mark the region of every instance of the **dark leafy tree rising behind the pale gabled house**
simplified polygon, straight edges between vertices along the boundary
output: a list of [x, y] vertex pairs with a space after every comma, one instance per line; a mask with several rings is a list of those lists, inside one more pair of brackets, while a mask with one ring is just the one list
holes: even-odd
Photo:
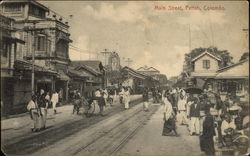
[[193, 65], [192, 65], [191, 60], [205, 51], [221, 58], [222, 61], [219, 64], [220, 68], [233, 64], [232, 62], [233, 57], [230, 55], [230, 53], [227, 50], [218, 50], [216, 47], [196, 48], [196, 49], [193, 49], [191, 52], [185, 54], [183, 72], [190, 74], [190, 72], [192, 72], [193, 70], [193, 67], [192, 67]]

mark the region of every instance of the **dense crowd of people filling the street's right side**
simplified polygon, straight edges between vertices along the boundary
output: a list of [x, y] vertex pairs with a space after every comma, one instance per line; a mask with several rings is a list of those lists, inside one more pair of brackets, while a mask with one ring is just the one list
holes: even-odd
[[173, 88], [162, 91], [162, 101], [165, 121], [162, 135], [178, 136], [178, 121], [187, 126], [191, 136], [199, 136], [201, 150], [207, 155], [215, 154], [214, 140], [217, 140], [219, 149], [237, 146], [241, 147], [241, 152], [246, 152], [249, 116], [242, 115], [235, 96], [227, 95], [222, 100], [211, 89], [194, 94]]

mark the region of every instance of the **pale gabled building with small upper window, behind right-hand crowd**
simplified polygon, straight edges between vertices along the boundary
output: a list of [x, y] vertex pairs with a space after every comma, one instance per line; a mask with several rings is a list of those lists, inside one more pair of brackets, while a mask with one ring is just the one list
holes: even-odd
[[191, 85], [211, 88], [220, 95], [239, 96], [249, 92], [249, 59], [223, 68], [219, 68], [220, 62], [219, 57], [208, 52], [192, 59]]

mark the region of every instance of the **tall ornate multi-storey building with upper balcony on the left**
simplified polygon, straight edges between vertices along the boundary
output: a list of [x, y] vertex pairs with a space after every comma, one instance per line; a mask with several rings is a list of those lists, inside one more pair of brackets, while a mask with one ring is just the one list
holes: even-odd
[[63, 90], [63, 99], [67, 100], [67, 72], [70, 63], [68, 49], [72, 42], [68, 23], [33, 0], [4, 1], [1, 4], [1, 13], [15, 20], [14, 26], [19, 30], [18, 35], [25, 41], [24, 45], [17, 45], [16, 59], [32, 62], [34, 54], [36, 65], [59, 74], [53, 79], [39, 79], [35, 75], [34, 90]]

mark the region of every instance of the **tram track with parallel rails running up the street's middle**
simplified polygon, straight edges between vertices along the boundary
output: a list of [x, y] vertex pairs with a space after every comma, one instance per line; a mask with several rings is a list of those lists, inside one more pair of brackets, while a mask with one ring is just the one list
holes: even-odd
[[87, 145], [78, 148], [72, 155], [115, 155], [143, 127], [157, 108], [157, 106], [151, 106], [149, 112], [144, 112], [140, 108], [115, 125], [114, 128], [106, 131]]

